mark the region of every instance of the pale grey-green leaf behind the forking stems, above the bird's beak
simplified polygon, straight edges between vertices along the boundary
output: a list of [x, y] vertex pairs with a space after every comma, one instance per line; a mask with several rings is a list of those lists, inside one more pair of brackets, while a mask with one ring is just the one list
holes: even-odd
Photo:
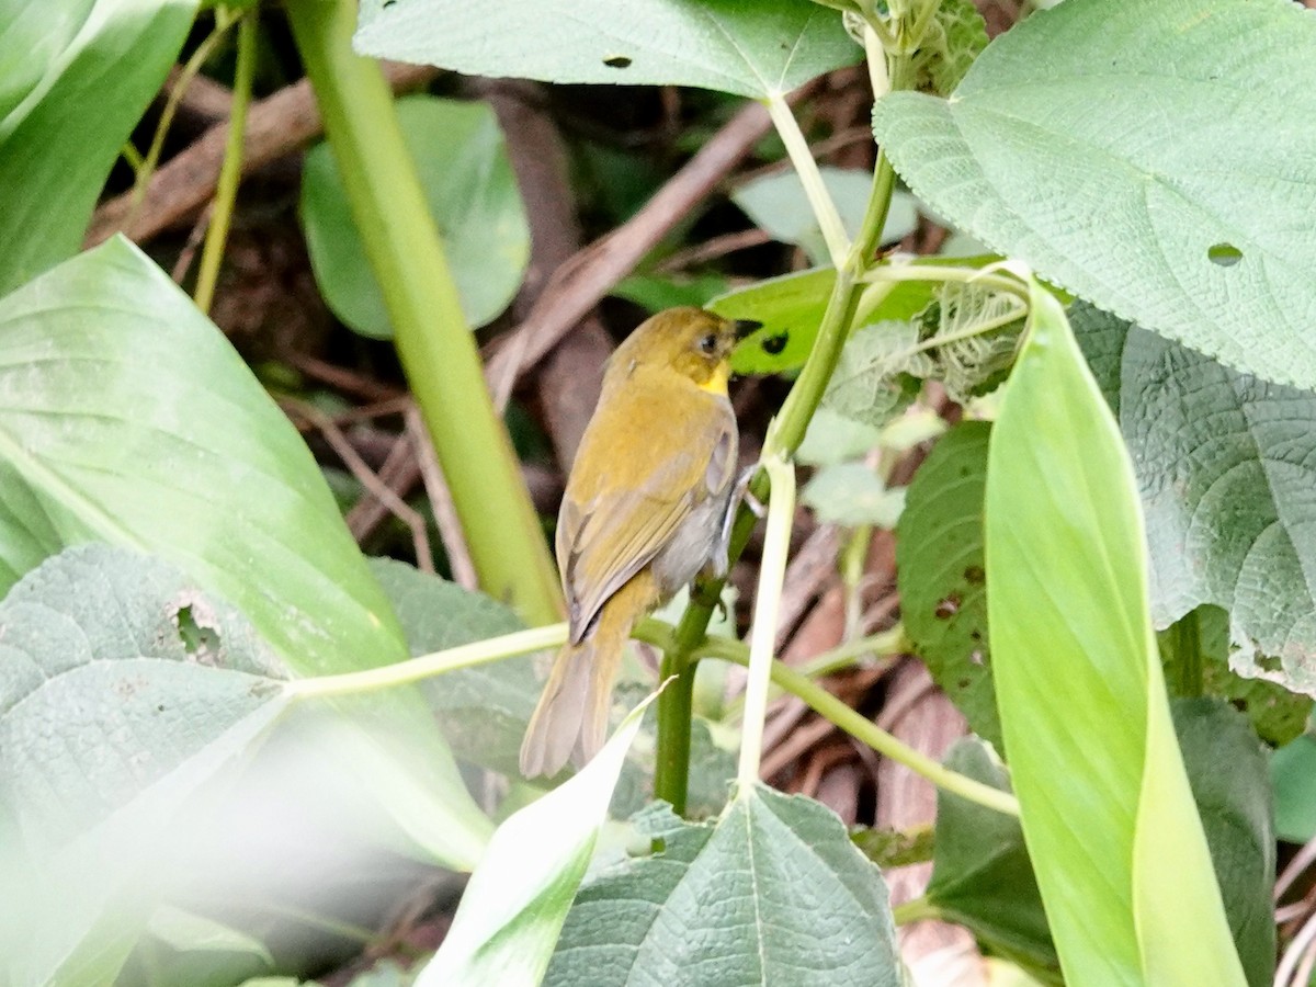
[[[869, 196], [873, 192], [873, 174], [828, 166], [820, 167], [819, 171], [822, 175], [822, 184], [826, 186], [826, 191], [841, 215], [845, 232], [853, 240], [858, 236], [863, 213], [869, 205]], [[779, 171], [746, 182], [732, 192], [732, 201], [744, 209], [754, 225], [772, 240], [795, 243], [804, 249], [813, 263], [826, 263], [829, 251], [826, 241], [822, 238], [822, 228], [819, 226], [808, 196], [804, 195], [804, 184], [795, 171]], [[896, 192], [891, 196], [887, 224], [882, 229], [878, 243], [894, 243], [903, 240], [917, 226], [919, 211], [915, 207], [913, 196], [907, 192]]]

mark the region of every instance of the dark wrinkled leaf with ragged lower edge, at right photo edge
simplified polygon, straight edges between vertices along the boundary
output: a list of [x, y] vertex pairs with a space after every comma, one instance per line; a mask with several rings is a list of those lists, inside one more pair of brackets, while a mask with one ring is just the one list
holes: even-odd
[[1073, 320], [1138, 476], [1153, 620], [1224, 607], [1238, 671], [1316, 695], [1316, 395], [1091, 305]]

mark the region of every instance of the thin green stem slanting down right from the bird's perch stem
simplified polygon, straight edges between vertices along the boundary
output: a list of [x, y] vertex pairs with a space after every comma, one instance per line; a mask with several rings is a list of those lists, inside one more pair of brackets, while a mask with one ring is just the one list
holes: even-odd
[[[704, 650], [709, 657], [716, 655], [724, 661], [746, 667], [750, 665], [749, 649], [740, 641], [713, 637], [708, 640]], [[866, 716], [854, 712], [840, 699], [791, 666], [774, 661], [772, 682], [792, 696], [804, 700], [805, 705], [828, 722], [834, 724], [855, 740], [867, 744], [883, 757], [904, 765], [915, 774], [923, 775], [938, 788], [986, 808], [995, 809], [996, 812], [1005, 813], [1007, 816], [1019, 815], [1019, 800], [1009, 792], [1003, 792], [958, 771], [951, 771], [926, 754], [915, 750], [907, 744], [901, 744]]]

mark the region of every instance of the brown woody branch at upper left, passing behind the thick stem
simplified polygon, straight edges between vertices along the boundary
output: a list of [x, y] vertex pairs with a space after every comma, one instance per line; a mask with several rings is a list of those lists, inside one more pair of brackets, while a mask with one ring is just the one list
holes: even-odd
[[[383, 68], [395, 91], [415, 89], [438, 72], [430, 66], [387, 62]], [[242, 174], [249, 175], [309, 143], [322, 132], [324, 121], [311, 83], [303, 79], [279, 89], [253, 104], [247, 112]], [[209, 128], [187, 150], [157, 168], [146, 186], [145, 197], [136, 208], [132, 192], [101, 203], [92, 216], [84, 245], [95, 246], [120, 232], [141, 243], [193, 216], [215, 196], [228, 139], [228, 121]]]

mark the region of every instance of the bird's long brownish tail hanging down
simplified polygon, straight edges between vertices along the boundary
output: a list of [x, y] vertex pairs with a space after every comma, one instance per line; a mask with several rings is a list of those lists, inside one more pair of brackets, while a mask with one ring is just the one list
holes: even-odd
[[521, 742], [526, 778], [555, 775], [569, 759], [583, 767], [603, 746], [621, 651], [636, 617], [653, 604], [646, 575], [613, 594], [588, 637], [558, 653]]

